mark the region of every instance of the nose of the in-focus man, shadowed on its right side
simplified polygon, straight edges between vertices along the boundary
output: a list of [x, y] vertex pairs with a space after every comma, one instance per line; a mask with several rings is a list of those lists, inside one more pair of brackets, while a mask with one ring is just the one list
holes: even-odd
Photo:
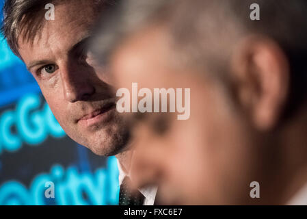
[[61, 71], [61, 77], [64, 98], [71, 103], [86, 101], [95, 93], [95, 88], [93, 83], [90, 82], [89, 74], [82, 73], [81, 69], [73, 70], [66, 68]]

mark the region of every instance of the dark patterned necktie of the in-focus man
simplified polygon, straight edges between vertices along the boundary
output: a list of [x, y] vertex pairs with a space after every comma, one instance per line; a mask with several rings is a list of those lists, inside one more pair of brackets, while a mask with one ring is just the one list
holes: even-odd
[[131, 179], [129, 177], [124, 177], [124, 181], [122, 181], [122, 185], [120, 185], [119, 205], [143, 205], [145, 197], [139, 190], [132, 192], [129, 185], [131, 185]]

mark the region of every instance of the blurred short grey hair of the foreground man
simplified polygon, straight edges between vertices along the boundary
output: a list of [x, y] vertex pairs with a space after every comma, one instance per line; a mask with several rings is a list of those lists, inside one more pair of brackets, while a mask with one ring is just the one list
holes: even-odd
[[[250, 19], [250, 5], [261, 8], [260, 21]], [[215, 70], [226, 78], [233, 45], [248, 34], [275, 40], [289, 59], [289, 109], [306, 99], [306, 0], [124, 0], [103, 14], [92, 51], [107, 62], [120, 42], [146, 25], [165, 25], [176, 58], [191, 66]], [[204, 70], [202, 70], [204, 71]]]

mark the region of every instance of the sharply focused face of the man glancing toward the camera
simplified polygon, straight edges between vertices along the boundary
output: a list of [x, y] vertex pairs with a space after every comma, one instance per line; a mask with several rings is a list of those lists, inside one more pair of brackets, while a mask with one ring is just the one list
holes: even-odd
[[128, 132], [116, 111], [111, 77], [87, 52], [96, 13], [92, 1], [55, 5], [34, 43], [19, 38], [19, 53], [55, 118], [76, 142], [98, 155], [114, 155]]

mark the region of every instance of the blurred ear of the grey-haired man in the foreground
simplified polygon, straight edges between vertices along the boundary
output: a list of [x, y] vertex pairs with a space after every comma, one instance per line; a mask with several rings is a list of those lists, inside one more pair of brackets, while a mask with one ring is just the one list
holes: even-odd
[[256, 129], [273, 128], [289, 89], [289, 63], [282, 49], [268, 38], [245, 38], [235, 47], [230, 68], [239, 105]]

